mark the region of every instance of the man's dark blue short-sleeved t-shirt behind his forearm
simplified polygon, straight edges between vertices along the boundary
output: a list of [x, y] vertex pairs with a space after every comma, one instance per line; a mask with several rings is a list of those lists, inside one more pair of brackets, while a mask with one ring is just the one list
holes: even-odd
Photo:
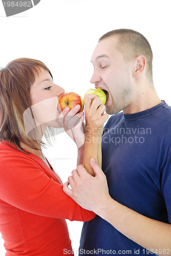
[[[113, 115], [102, 136], [102, 170], [113, 199], [148, 218], [171, 223], [170, 106], [162, 101], [139, 113]], [[96, 216], [82, 228], [79, 255], [87, 254], [151, 253]]]

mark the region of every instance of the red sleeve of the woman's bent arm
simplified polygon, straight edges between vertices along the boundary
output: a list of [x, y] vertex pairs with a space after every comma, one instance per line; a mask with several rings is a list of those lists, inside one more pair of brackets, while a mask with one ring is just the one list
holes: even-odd
[[[50, 169], [28, 155], [1, 154], [0, 198], [32, 214], [89, 221], [96, 215], [76, 204], [63, 190], [60, 181], [47, 175]], [[41, 166], [42, 165], [42, 166]], [[47, 169], [46, 169], [47, 168]], [[49, 170], [48, 170], [49, 169]]]

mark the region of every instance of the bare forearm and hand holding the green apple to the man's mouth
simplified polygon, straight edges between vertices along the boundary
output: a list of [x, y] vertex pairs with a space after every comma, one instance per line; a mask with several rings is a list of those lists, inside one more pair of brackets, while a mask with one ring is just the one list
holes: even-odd
[[105, 106], [94, 94], [86, 95], [84, 103], [86, 114], [86, 140], [84, 143], [83, 164], [87, 172], [95, 176], [90, 165], [90, 159], [94, 157], [99, 166], [101, 166], [101, 136], [104, 122], [108, 119], [108, 114], [104, 114]]

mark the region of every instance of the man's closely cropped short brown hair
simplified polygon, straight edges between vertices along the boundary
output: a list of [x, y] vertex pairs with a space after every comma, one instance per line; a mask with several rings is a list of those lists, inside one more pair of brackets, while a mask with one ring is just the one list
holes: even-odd
[[131, 61], [139, 55], [145, 57], [146, 75], [150, 81], [153, 81], [153, 52], [148, 40], [135, 30], [116, 29], [102, 35], [99, 41], [114, 35], [118, 36], [117, 49], [124, 55], [126, 61]]

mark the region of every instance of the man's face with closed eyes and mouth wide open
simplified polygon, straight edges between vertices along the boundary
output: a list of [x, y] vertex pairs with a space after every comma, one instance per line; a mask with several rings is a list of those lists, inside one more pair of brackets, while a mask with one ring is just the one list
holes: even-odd
[[133, 101], [134, 87], [132, 83], [131, 63], [117, 50], [117, 37], [102, 39], [92, 55], [94, 73], [91, 83], [95, 88], [106, 90], [106, 113], [116, 114], [129, 106]]

